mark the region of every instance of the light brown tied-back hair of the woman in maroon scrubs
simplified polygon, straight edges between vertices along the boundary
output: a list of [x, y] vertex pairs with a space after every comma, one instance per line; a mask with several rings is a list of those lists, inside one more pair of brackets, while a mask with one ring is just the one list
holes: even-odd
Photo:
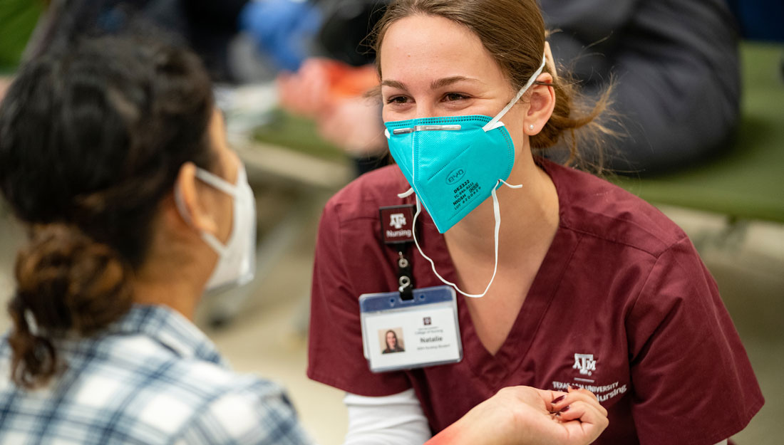
[[[535, 0], [396, 0], [387, 6], [372, 34], [379, 77], [384, 34], [397, 20], [417, 14], [441, 16], [473, 31], [515, 90], [521, 89], [542, 63], [546, 29]], [[543, 154], [565, 139], [562, 142], [569, 151], [567, 165], [601, 172], [601, 155], [598, 159], [586, 159], [579, 147], [588, 143], [598, 149], [604, 145], [606, 136], [615, 136], [597, 119], [608, 109], [610, 89], [590, 103], [579, 95], [568, 75], [556, 75], [549, 64], [545, 71], [553, 76], [551, 86], [555, 89], [556, 102], [550, 120], [541, 132], [531, 137], [532, 150]], [[580, 131], [575, 132], [578, 128]]]

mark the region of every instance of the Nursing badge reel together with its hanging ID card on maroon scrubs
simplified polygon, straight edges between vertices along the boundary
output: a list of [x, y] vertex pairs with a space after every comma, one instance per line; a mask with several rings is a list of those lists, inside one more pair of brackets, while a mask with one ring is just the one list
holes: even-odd
[[379, 208], [382, 240], [397, 251], [397, 290], [359, 297], [362, 344], [373, 372], [463, 360], [455, 290], [415, 288], [407, 255], [413, 213], [413, 205]]

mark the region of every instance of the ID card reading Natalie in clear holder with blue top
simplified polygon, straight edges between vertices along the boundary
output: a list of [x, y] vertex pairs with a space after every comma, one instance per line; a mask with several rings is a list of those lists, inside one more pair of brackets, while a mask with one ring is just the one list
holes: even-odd
[[463, 360], [463, 342], [451, 286], [359, 296], [362, 345], [370, 371], [384, 372]]

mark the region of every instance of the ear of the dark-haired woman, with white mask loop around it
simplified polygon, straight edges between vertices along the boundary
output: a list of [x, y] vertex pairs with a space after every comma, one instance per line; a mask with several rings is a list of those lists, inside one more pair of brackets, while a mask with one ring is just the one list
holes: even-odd
[[[184, 222], [198, 232], [216, 234], [218, 225], [205, 205], [208, 197], [204, 187], [197, 185], [196, 165], [186, 162], [174, 184], [174, 200]], [[200, 192], [200, 190], [202, 190]]]

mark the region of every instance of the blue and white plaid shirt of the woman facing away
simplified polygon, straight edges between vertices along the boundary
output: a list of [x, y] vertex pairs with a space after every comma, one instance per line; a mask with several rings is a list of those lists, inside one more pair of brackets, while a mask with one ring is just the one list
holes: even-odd
[[0, 344], [0, 444], [310, 443], [283, 390], [230, 371], [194, 324], [134, 306], [93, 338], [60, 339], [67, 368], [27, 391]]

